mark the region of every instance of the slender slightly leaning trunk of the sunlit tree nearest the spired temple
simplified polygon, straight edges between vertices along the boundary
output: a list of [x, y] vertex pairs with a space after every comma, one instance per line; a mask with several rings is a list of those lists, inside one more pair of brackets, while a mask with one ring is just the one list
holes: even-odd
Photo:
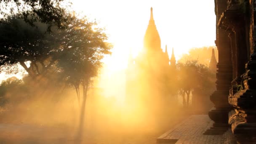
[[78, 134], [77, 139], [82, 143], [82, 136], [83, 136], [83, 130], [84, 130], [84, 120], [85, 120], [85, 104], [86, 104], [86, 98], [87, 98], [87, 90], [88, 90], [88, 83], [83, 85], [83, 103], [80, 110], [80, 123], [78, 127]]

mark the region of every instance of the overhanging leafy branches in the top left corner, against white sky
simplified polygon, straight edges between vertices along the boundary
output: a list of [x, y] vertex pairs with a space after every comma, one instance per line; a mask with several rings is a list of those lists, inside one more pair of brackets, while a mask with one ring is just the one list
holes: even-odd
[[24, 19], [30, 25], [35, 21], [47, 24], [48, 31], [53, 25], [60, 29], [67, 27], [65, 9], [61, 7], [63, 0], [0, 0], [0, 14], [3, 17], [9, 14], [20, 13], [20, 19]]

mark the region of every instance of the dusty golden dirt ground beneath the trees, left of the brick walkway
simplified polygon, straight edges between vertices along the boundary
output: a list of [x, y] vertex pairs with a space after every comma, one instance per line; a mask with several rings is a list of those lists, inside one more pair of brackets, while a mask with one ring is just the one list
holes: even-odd
[[145, 132], [86, 131], [82, 139], [76, 139], [76, 131], [63, 125], [44, 126], [24, 123], [1, 123], [0, 144], [156, 144], [156, 139], [184, 117], [176, 118], [163, 128]]

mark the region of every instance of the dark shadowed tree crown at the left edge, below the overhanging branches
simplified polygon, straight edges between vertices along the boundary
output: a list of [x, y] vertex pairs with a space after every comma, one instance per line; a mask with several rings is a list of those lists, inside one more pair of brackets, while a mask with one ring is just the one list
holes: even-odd
[[63, 51], [57, 36], [61, 31], [45, 33], [46, 24], [35, 25], [30, 26], [16, 15], [0, 23], [0, 66], [20, 64], [32, 77], [46, 74]]

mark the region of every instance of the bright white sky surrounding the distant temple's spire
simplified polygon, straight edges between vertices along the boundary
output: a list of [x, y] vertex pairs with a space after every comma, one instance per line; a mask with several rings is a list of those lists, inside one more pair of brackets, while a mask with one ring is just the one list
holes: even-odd
[[162, 48], [168, 45], [179, 59], [189, 48], [215, 45], [214, 0], [73, 0], [72, 8], [106, 28], [114, 44], [111, 69], [126, 67], [129, 49], [133, 55], [143, 47], [143, 38], [153, 7]]

